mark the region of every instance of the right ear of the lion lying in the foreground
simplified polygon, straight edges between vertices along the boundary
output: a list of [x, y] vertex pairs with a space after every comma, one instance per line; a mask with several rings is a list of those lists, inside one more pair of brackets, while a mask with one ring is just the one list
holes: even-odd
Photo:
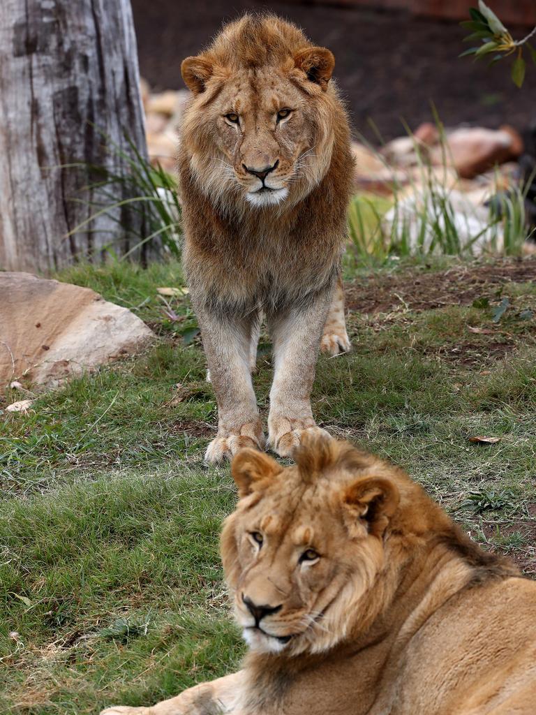
[[400, 493], [397, 485], [387, 477], [364, 476], [347, 487], [343, 501], [352, 516], [367, 523], [369, 533], [382, 536], [397, 511]]

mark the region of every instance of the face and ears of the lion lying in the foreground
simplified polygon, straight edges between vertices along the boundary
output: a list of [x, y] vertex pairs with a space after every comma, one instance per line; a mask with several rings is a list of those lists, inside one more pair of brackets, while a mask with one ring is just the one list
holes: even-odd
[[[322, 450], [341, 449], [319, 440]], [[237, 621], [256, 651], [331, 648], [382, 569], [397, 488], [374, 467], [356, 468], [360, 453], [344, 449], [353, 462], [323, 473], [283, 469], [254, 450], [234, 459], [242, 498], [224, 526], [222, 558]]]

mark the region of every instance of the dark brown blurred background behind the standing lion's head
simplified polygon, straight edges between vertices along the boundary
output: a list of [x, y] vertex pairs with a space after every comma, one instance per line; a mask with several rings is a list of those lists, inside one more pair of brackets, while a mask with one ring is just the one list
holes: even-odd
[[[504, 10], [507, 0], [500, 2]], [[510, 28], [516, 38], [527, 34], [530, 11], [536, 10], [535, 0], [524, 2], [512, 0], [508, 6], [510, 15], [525, 19], [525, 26]], [[410, 10], [378, 10], [382, 3]], [[244, 11], [270, 10], [332, 49], [357, 132], [372, 137], [372, 119], [385, 139], [398, 136], [404, 133], [401, 119], [415, 129], [432, 117], [431, 102], [447, 126], [508, 123], [525, 129], [536, 120], [536, 66], [527, 66], [519, 90], [510, 80], [508, 61], [488, 69], [485, 63], [458, 59], [466, 33], [457, 21], [439, 16], [456, 10], [463, 17], [463, 3], [475, 6], [477, 0], [382, 0], [372, 3], [376, 9], [363, 6], [364, 0], [132, 0], [142, 75], [158, 89], [184, 87], [182, 59], [199, 52], [223, 21]], [[494, 7], [492, 0], [487, 4]]]

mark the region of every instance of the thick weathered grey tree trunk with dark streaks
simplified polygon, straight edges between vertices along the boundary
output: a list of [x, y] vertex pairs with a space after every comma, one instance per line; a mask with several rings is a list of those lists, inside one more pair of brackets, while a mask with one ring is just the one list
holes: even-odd
[[[131, 204], [69, 235], [103, 202], [91, 167], [129, 174], [124, 132], [145, 155], [130, 0], [0, 0], [0, 269], [46, 273], [139, 240]], [[131, 189], [106, 191], [113, 204]]]

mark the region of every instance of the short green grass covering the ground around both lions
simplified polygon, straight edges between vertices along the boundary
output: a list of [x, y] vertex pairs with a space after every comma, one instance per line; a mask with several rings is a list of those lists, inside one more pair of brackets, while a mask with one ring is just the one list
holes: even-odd
[[[214, 395], [188, 297], [157, 293], [182, 285], [179, 265], [61, 277], [130, 307], [159, 340], [41, 396], [28, 415], [2, 415], [0, 711], [10, 715], [152, 704], [243, 653], [217, 546], [235, 490], [228, 468], [202, 464]], [[520, 313], [536, 310], [536, 287], [506, 285], [505, 296], [498, 324], [493, 305], [352, 313], [354, 352], [320, 358], [314, 413], [405, 467], [473, 538], [535, 576], [536, 326]], [[493, 358], [502, 339], [510, 347]], [[258, 368], [266, 416], [269, 354]]]

